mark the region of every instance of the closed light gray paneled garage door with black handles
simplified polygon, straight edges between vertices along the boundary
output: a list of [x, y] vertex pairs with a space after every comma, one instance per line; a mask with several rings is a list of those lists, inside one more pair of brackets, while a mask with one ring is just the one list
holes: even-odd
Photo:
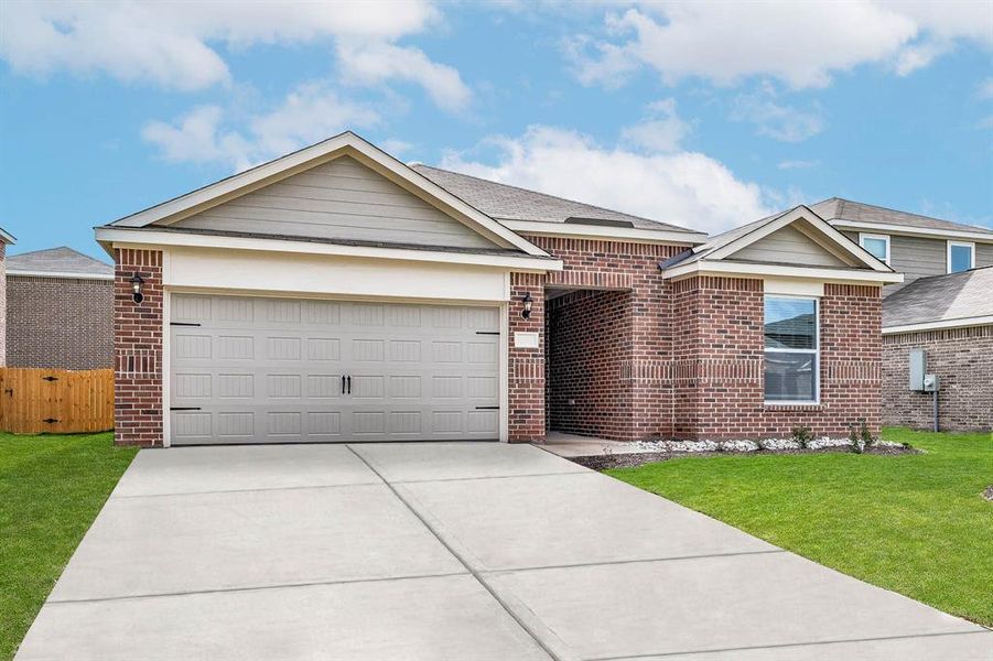
[[499, 310], [173, 294], [172, 443], [497, 440]]

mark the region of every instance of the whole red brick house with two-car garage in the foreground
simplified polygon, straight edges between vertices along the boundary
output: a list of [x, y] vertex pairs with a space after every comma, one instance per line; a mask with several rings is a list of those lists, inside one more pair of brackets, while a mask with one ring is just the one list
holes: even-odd
[[805, 206], [708, 239], [350, 132], [96, 238], [147, 446], [878, 430], [903, 278]]

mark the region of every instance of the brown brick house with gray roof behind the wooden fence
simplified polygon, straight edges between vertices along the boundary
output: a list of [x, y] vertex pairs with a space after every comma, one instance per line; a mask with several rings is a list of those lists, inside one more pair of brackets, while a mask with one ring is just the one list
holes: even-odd
[[9, 257], [6, 283], [9, 366], [111, 366], [114, 267], [63, 246]]

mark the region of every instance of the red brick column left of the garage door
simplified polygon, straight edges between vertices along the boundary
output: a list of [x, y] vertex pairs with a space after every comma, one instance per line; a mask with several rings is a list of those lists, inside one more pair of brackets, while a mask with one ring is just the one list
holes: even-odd
[[[162, 252], [114, 251], [114, 419], [118, 445], [162, 445]], [[144, 301], [131, 300], [134, 273]]]

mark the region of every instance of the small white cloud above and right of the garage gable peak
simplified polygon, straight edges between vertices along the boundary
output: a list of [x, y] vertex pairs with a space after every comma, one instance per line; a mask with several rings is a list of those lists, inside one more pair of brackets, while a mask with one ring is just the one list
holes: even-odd
[[455, 68], [431, 62], [420, 48], [342, 42], [337, 52], [347, 80], [363, 85], [391, 79], [415, 83], [445, 110], [462, 110], [472, 98], [472, 91]]

